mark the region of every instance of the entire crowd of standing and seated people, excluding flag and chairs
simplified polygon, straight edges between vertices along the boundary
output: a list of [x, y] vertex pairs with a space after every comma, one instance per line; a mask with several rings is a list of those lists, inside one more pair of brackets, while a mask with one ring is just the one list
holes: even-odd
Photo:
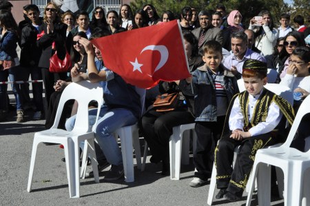
[[[240, 200], [256, 151], [277, 142], [274, 131], [279, 130], [282, 117], [292, 123], [293, 111], [297, 112], [310, 92], [310, 28], [304, 25], [301, 15], [293, 18], [295, 27], [291, 27], [290, 15], [282, 14], [277, 28], [271, 13], [262, 10], [254, 14], [249, 28], [245, 29], [247, 23], [242, 23], [240, 11], [232, 10], [226, 14], [221, 4], [212, 11], [198, 12], [186, 6], [180, 14], [167, 10], [161, 16], [152, 4], [146, 4], [136, 12], [124, 4], [119, 12], [110, 10], [106, 14], [97, 6], [90, 19], [90, 14], [85, 11], [61, 13], [56, 4], [50, 2], [45, 6], [43, 17], [39, 17], [36, 5], [24, 6], [25, 20], [17, 25], [11, 8], [8, 1], [1, 1], [0, 82], [8, 81], [8, 78], [10, 81], [27, 81], [30, 74], [32, 80], [43, 79], [47, 105], [44, 110], [42, 83], [32, 84], [32, 100], [28, 84], [12, 84], [17, 122], [25, 121], [26, 110], [34, 110], [33, 120], [45, 118], [45, 127], [50, 128], [66, 85], [81, 80], [101, 82], [105, 103], [101, 107], [91, 106], [90, 123], [94, 122], [94, 115], [100, 109], [95, 132], [96, 156], [99, 172], [112, 165], [105, 175], [106, 181], [121, 178], [124, 173], [121, 150], [113, 136], [119, 127], [138, 122], [152, 154], [151, 163], [161, 163], [162, 174], [168, 175], [172, 128], [196, 123], [198, 138], [193, 151], [196, 172], [189, 185], [200, 187], [207, 183], [215, 161], [220, 189], [216, 198]], [[105, 67], [102, 51], [90, 40], [174, 19], [180, 19], [192, 76], [173, 82], [161, 81], [157, 87], [147, 90], [143, 106], [136, 87], [125, 83], [121, 74]], [[21, 48], [20, 58], [17, 44]], [[72, 69], [50, 72], [49, 59], [55, 52], [60, 59], [69, 53]], [[263, 85], [268, 81], [267, 68], [278, 72], [273, 83], [287, 85], [294, 93], [299, 92], [300, 99], [290, 105], [264, 89]], [[237, 80], [241, 78], [245, 82], [245, 92], [238, 88]], [[0, 121], [6, 121], [10, 107], [7, 87], [0, 85]], [[172, 110], [163, 112], [152, 106], [158, 94], [174, 92], [179, 95]], [[70, 101], [65, 107], [68, 110], [61, 114], [58, 127], [72, 130], [77, 105]], [[143, 107], [146, 111], [141, 115]], [[304, 150], [304, 138], [309, 133], [303, 130], [293, 146]], [[237, 167], [232, 169], [236, 145], [242, 145], [242, 149], [236, 160]], [[92, 175], [92, 172], [87, 174]]]

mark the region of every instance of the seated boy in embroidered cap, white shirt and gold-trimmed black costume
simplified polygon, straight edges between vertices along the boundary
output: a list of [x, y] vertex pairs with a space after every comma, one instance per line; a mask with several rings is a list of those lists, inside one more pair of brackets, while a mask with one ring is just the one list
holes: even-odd
[[[291, 104], [264, 88], [266, 63], [254, 59], [245, 61], [242, 78], [246, 90], [231, 101], [227, 112], [229, 122], [225, 121], [214, 154], [216, 182], [220, 189], [216, 198], [224, 197], [231, 202], [241, 199], [257, 150], [280, 141], [277, 134], [281, 131], [282, 116], [290, 124], [294, 118]], [[234, 150], [238, 145], [241, 146], [233, 169]]]

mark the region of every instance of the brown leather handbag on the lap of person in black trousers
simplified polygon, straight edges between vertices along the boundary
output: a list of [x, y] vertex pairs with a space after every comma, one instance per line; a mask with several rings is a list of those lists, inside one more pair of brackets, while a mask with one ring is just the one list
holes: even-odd
[[168, 112], [175, 110], [178, 106], [178, 95], [178, 92], [158, 95], [153, 103], [153, 106], [156, 107], [156, 112]]

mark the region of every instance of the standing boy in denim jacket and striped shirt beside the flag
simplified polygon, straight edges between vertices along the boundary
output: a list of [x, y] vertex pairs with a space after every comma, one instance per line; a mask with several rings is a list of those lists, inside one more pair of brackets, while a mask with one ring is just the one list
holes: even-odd
[[236, 77], [221, 64], [222, 45], [215, 40], [207, 41], [203, 53], [205, 65], [192, 72], [192, 77], [186, 80], [193, 83], [198, 137], [194, 151], [197, 171], [189, 183], [191, 187], [200, 187], [211, 176], [214, 148], [223, 130], [228, 105], [234, 94], [239, 92]]

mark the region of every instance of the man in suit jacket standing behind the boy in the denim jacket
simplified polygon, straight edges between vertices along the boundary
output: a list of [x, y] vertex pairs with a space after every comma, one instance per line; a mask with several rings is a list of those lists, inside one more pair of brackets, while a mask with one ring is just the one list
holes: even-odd
[[223, 44], [223, 31], [220, 28], [214, 28], [211, 24], [212, 16], [209, 12], [202, 10], [198, 14], [200, 28], [193, 30], [193, 34], [198, 39], [198, 49], [202, 50], [205, 42], [216, 40]]

